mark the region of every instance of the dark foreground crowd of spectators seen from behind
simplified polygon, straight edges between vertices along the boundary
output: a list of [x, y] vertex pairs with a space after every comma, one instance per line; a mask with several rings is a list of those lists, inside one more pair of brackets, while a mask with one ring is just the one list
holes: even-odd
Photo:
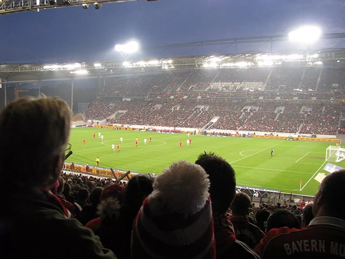
[[255, 206], [214, 153], [126, 184], [61, 175], [71, 115], [46, 97], [19, 98], [0, 113], [3, 258], [344, 257], [344, 170], [323, 179], [312, 207]]

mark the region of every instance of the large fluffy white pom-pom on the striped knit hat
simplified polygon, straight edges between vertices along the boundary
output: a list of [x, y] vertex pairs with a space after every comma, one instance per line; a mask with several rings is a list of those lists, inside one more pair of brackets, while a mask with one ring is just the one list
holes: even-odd
[[164, 208], [168, 213], [194, 214], [205, 206], [209, 186], [208, 175], [200, 165], [187, 161], [173, 163], [155, 180], [150, 208], [152, 212]]

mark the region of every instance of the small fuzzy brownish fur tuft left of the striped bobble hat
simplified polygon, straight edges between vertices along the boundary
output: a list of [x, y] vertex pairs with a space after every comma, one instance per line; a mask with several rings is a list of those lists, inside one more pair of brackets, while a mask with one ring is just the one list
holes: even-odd
[[118, 219], [121, 213], [121, 202], [118, 198], [108, 197], [102, 200], [97, 206], [97, 214], [102, 220], [104, 219]]

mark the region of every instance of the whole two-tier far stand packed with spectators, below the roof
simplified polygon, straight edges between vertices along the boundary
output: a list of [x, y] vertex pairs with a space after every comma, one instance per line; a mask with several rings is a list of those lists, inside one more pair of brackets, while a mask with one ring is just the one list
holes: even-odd
[[[109, 78], [100, 98], [90, 104], [85, 116], [102, 120], [125, 111], [108, 121], [334, 135], [341, 107], [332, 101], [343, 98], [339, 91], [345, 81], [343, 72], [340, 68], [275, 67], [198, 69]], [[122, 102], [106, 96], [129, 99]], [[214, 117], [219, 118], [210, 123]]]

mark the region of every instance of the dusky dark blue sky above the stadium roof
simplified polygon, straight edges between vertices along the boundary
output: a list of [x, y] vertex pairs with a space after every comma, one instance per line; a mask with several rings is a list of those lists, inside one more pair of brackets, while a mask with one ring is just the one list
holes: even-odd
[[[303, 11], [304, 10], [304, 11]], [[287, 33], [316, 24], [323, 32], [345, 32], [345, 0], [159, 0], [22, 12], [0, 16], [0, 63], [121, 60], [118, 42], [135, 38], [137, 57], [233, 53], [232, 46], [145, 51], [172, 43]], [[313, 49], [344, 47], [320, 42]], [[303, 47], [303, 46], [302, 46]], [[288, 43], [277, 49], [302, 48]], [[242, 45], [239, 51], [269, 49]]]

